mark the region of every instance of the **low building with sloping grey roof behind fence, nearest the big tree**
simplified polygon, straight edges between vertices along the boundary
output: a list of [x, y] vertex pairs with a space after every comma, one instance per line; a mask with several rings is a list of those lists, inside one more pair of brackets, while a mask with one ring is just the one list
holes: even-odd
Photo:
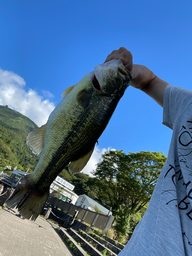
[[79, 196], [75, 205], [92, 211], [96, 211], [95, 206], [97, 206], [97, 208], [100, 211], [102, 211], [103, 214], [112, 215], [112, 212], [110, 210], [106, 209], [104, 206], [100, 205], [99, 203], [97, 203], [96, 201], [94, 201], [93, 199], [86, 195]]

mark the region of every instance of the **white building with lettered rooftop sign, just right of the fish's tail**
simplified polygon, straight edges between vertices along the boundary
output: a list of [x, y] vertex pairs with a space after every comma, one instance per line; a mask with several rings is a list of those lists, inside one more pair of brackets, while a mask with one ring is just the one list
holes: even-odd
[[53, 183], [50, 186], [50, 195], [54, 196], [54, 191], [62, 189], [62, 192], [60, 193], [60, 199], [62, 199], [65, 202], [75, 204], [78, 199], [78, 196], [72, 191], [74, 187], [74, 185], [57, 176], [57, 178], [53, 181]]

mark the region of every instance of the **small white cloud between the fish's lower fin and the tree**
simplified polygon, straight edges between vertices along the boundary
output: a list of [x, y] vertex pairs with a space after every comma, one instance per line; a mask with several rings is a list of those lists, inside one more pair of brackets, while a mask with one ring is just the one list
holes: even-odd
[[93, 174], [91, 174], [90, 172], [96, 169], [95, 165], [99, 162], [101, 155], [104, 154], [105, 151], [109, 151], [109, 150], [115, 150], [115, 149], [111, 147], [108, 147], [106, 149], [106, 148], [99, 148], [98, 146], [95, 146], [94, 152], [88, 164], [86, 165], [86, 167], [82, 169], [82, 173], [89, 174], [89, 176], [94, 177]]

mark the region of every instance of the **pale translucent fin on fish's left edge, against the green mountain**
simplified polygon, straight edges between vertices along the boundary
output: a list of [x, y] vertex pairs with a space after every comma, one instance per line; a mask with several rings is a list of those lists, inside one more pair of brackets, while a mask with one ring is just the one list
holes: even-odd
[[33, 150], [34, 154], [39, 155], [44, 148], [44, 138], [46, 133], [46, 124], [33, 130], [27, 136], [27, 144]]

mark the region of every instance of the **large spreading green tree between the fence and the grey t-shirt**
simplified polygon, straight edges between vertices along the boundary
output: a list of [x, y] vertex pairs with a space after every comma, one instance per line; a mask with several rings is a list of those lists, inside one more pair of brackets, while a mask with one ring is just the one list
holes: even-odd
[[133, 232], [130, 223], [135, 227], [141, 219], [165, 160], [163, 153], [144, 151], [115, 150], [101, 156], [92, 174], [99, 179], [99, 196], [108, 197], [112, 206], [118, 236], [125, 238]]

